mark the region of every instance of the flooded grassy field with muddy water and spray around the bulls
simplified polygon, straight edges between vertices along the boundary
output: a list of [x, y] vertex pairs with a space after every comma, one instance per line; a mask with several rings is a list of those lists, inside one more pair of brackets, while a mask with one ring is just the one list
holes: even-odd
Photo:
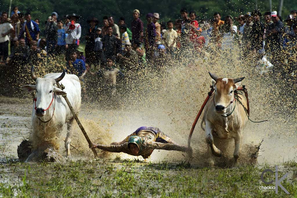
[[[137, 83], [129, 84], [125, 97], [116, 95], [105, 101], [97, 95], [83, 98], [78, 117], [96, 143], [121, 141], [140, 126], [154, 126], [178, 144], [187, 145], [192, 123], [210, 90], [208, 71], [219, 77], [244, 76], [250, 118], [268, 120], [249, 121], [244, 129], [244, 145], [255, 147], [263, 140], [256, 165], [246, 160], [251, 153], [244, 147], [234, 166], [208, 167], [201, 118], [191, 141], [192, 157], [178, 151], [155, 150], [144, 160], [97, 150], [99, 158], [94, 159], [75, 123], [72, 162], [65, 157], [65, 126], [59, 139], [61, 161], [21, 163], [17, 148], [31, 131], [32, 98], [19, 90], [18, 97], [0, 97], [0, 197], [281, 197], [285, 192], [280, 188], [279, 194], [259, 189], [266, 186], [260, 178], [262, 171], [274, 171], [275, 165], [279, 165], [279, 178], [289, 172], [282, 185], [289, 196], [296, 196], [296, 87], [290, 87], [290, 80], [283, 76], [259, 75], [255, 61], [240, 61], [235, 50], [231, 52], [234, 56], [227, 58], [223, 52], [216, 56], [205, 53], [195, 61], [178, 60], [162, 75], [143, 70], [131, 80]], [[29, 70], [24, 72], [29, 77]], [[36, 73], [44, 74], [38, 68]], [[226, 155], [233, 157], [232, 153]], [[274, 180], [269, 174], [266, 180]]]

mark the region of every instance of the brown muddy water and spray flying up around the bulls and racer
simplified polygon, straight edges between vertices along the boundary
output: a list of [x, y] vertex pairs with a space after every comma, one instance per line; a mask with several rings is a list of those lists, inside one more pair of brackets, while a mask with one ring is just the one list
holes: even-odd
[[[98, 95], [89, 96], [91, 100], [84, 99], [79, 118], [91, 140], [108, 144], [123, 140], [140, 126], [154, 126], [180, 145], [187, 145], [192, 123], [210, 90], [208, 71], [211, 71], [218, 77], [246, 77], [242, 84], [249, 92], [250, 118], [255, 121], [268, 119], [263, 123], [249, 121], [244, 129], [244, 144], [257, 145], [263, 139], [258, 162], [276, 164], [296, 160], [296, 87], [290, 84], [288, 76], [277, 72], [259, 75], [256, 67], [259, 57], [243, 58], [237, 46], [215, 53], [187, 51], [180, 57], [158, 72], [139, 72], [138, 78], [126, 82], [129, 91], [125, 90], [124, 94], [112, 96], [105, 102], [96, 102], [101, 98]], [[57, 68], [54, 67], [53, 71], [57, 71]], [[51, 70], [46, 69], [46, 72]], [[36, 73], [42, 74], [41, 71]], [[20, 92], [20, 95], [25, 94]], [[29, 136], [31, 105], [30, 99], [1, 98], [1, 159], [5, 156], [17, 158], [17, 145]], [[201, 118], [191, 143], [194, 149], [191, 163], [198, 164], [205, 161], [203, 153], [207, 148], [200, 122]], [[60, 153], [65, 155], [62, 139]], [[77, 125], [72, 137], [72, 155], [74, 159], [92, 158]], [[99, 151], [99, 155], [106, 159], [116, 156], [142, 159], [123, 153]], [[149, 160], [180, 162], [189, 158], [177, 151], [156, 150]]]

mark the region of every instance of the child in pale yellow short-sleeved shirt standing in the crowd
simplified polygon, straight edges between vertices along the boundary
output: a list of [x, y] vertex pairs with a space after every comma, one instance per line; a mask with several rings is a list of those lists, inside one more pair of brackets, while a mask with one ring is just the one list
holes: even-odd
[[167, 22], [167, 28], [168, 30], [165, 32], [163, 39], [165, 39], [167, 53], [173, 56], [176, 51], [176, 40], [178, 35], [173, 29], [173, 21], [170, 20]]

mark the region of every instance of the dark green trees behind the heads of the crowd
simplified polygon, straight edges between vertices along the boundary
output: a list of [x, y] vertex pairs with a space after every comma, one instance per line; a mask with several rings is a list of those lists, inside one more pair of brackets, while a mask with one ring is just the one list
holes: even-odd
[[[1, 0], [0, 11], [8, 11], [10, 0]], [[1, 2], [0, 1], [0, 2]], [[296, 2], [296, 1], [295, 1]], [[284, 0], [282, 15], [286, 18], [290, 10], [297, 9], [297, 3]], [[277, 10], [279, 1], [272, 0], [272, 9]], [[179, 10], [181, 7], [187, 7], [189, 11], [194, 10], [198, 18], [211, 19], [214, 12], [221, 12], [222, 17], [226, 15], [237, 16], [241, 13], [251, 12], [256, 7], [263, 13], [269, 10], [269, 1], [267, 0], [12, 0], [12, 7], [18, 6], [21, 12], [31, 12], [32, 18], [39, 18], [41, 24], [55, 11], [59, 18], [64, 14], [76, 13], [81, 16], [79, 23], [83, 31], [86, 31], [86, 20], [90, 16], [95, 16], [102, 25], [103, 16], [112, 15], [115, 22], [119, 17], [124, 16], [126, 24], [129, 27], [132, 20], [132, 11], [140, 10], [141, 19], [145, 22], [145, 15], [148, 12], [158, 12], [160, 19], [164, 22], [171, 19], [180, 18]], [[43, 24], [41, 27], [44, 26]]]

